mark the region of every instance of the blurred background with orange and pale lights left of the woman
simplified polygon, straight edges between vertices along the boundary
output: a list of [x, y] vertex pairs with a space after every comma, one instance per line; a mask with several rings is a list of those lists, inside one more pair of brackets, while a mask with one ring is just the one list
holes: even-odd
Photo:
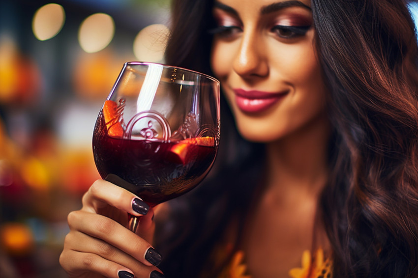
[[0, 277], [66, 277], [67, 214], [124, 62], [164, 62], [169, 0], [0, 0]]

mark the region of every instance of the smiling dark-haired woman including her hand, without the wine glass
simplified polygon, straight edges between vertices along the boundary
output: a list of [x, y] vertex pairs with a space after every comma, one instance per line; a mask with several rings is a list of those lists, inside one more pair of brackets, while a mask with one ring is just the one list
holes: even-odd
[[[417, 277], [417, 50], [403, 0], [175, 1], [167, 63], [217, 77], [230, 108], [217, 163], [155, 220], [97, 181], [68, 217], [61, 265], [71, 277], [163, 277], [160, 262], [167, 277]], [[138, 235], [118, 224], [126, 212], [146, 214]]]

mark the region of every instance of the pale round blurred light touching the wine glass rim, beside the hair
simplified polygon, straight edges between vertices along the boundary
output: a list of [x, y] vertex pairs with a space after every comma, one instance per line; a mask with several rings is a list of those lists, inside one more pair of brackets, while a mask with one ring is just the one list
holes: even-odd
[[139, 61], [163, 62], [169, 28], [153, 24], [143, 28], [135, 37], [133, 51]]

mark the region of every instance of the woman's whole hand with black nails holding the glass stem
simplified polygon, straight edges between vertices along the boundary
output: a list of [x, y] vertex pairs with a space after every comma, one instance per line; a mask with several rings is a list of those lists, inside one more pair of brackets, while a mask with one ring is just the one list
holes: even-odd
[[[126, 228], [127, 213], [142, 216], [136, 234]], [[73, 278], [164, 277], [156, 268], [161, 256], [150, 245], [153, 214], [129, 191], [95, 181], [83, 196], [82, 209], [68, 215], [70, 232], [60, 255], [61, 266]]]

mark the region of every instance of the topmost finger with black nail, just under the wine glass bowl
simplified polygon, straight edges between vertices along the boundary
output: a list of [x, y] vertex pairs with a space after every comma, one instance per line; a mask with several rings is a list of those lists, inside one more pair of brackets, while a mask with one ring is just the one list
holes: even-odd
[[149, 211], [149, 205], [133, 193], [108, 181], [96, 180], [83, 196], [83, 210], [97, 213], [108, 205], [135, 216]]

